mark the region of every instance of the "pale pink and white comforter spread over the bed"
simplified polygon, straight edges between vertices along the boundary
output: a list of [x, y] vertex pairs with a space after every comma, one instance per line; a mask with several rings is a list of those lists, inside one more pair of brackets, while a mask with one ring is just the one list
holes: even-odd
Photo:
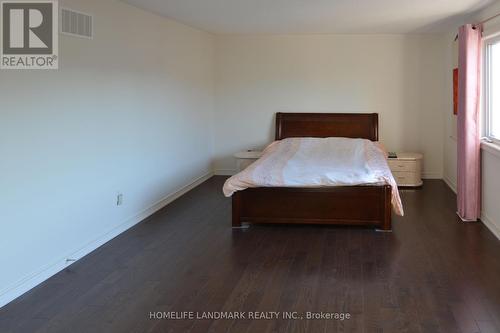
[[392, 187], [392, 207], [403, 215], [399, 191], [379, 145], [364, 139], [289, 138], [270, 144], [263, 156], [229, 178], [224, 194], [250, 187]]

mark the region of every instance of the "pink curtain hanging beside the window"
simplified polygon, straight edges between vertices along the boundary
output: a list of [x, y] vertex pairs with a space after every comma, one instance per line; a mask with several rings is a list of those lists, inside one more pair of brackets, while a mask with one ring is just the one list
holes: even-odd
[[458, 40], [458, 215], [463, 221], [477, 221], [481, 213], [482, 27], [460, 27]]

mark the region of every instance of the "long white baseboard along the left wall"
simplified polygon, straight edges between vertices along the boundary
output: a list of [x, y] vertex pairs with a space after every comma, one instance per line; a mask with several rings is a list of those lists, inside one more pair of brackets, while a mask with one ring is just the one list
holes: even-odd
[[62, 271], [69, 265], [73, 264], [74, 262], [66, 262], [67, 258], [72, 258], [79, 260], [89, 254], [90, 252], [94, 251], [98, 247], [102, 246], [103, 244], [109, 242], [116, 236], [122, 234], [123, 232], [127, 231], [129, 228], [133, 227], [134, 225], [138, 224], [139, 222], [142, 222], [144, 219], [147, 217], [151, 216], [152, 214], [156, 213], [158, 210], [162, 209], [169, 203], [173, 202], [174, 200], [178, 199], [182, 195], [186, 194], [196, 186], [200, 185], [201, 183], [205, 182], [209, 178], [213, 176], [213, 172], [206, 173], [205, 175], [198, 177], [194, 179], [192, 182], [187, 184], [186, 186], [183, 186], [182, 188], [178, 189], [177, 191], [165, 196], [152, 206], [144, 209], [142, 212], [139, 214], [125, 220], [122, 224], [118, 225], [117, 227], [114, 227], [113, 229], [109, 230], [108, 232], [104, 233], [103, 235], [99, 236], [96, 238], [94, 241], [88, 243], [87, 245], [83, 246], [83, 248], [80, 248], [79, 250], [73, 251], [72, 253], [69, 253], [65, 256], [63, 256], [60, 260], [49, 264], [39, 270], [38, 272], [35, 272], [33, 274], [30, 274], [23, 279], [17, 281], [11, 286], [8, 286], [7, 288], [4, 288], [3, 290], [0, 290], [0, 307], [6, 305], [7, 303], [13, 301], [14, 299], [18, 298], [19, 296], [23, 295], [27, 291], [31, 290], [32, 288], [36, 287], [43, 281], [47, 280], [51, 276], [55, 275], [56, 273]]

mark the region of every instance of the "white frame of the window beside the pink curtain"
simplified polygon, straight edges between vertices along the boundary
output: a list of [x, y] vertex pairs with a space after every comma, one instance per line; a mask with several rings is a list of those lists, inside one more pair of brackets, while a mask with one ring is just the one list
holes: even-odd
[[[500, 35], [495, 34], [491, 37], [483, 39], [483, 73], [484, 73], [484, 89], [483, 89], [483, 135], [485, 138], [500, 145], [500, 137], [495, 137], [492, 134], [492, 110], [491, 105], [491, 45], [500, 44]], [[500, 115], [499, 115], [500, 117]]]

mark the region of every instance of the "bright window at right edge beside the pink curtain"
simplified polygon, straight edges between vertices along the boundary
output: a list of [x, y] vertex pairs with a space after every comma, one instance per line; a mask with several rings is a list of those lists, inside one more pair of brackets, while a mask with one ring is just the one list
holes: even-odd
[[500, 37], [485, 40], [485, 117], [486, 137], [500, 143]]

